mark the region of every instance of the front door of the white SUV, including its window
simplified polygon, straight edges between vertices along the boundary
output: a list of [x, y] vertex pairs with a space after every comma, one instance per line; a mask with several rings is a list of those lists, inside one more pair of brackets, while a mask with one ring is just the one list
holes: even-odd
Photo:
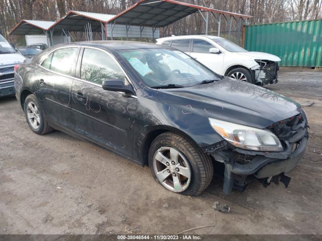
[[209, 52], [210, 48], [215, 46], [203, 39], [192, 40], [192, 51], [190, 56], [206, 65], [212, 71], [222, 74], [223, 53], [213, 54]]

